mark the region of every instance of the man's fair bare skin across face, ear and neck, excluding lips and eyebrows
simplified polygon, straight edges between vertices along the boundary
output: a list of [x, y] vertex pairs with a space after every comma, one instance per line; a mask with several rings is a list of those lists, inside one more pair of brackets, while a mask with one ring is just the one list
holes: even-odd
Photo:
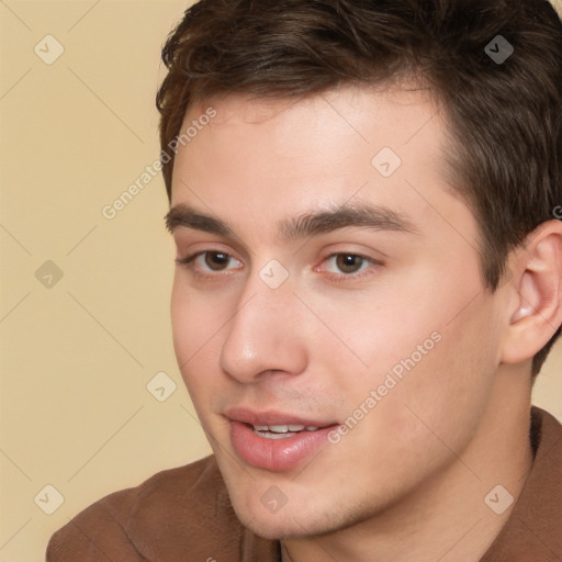
[[[447, 126], [427, 91], [229, 95], [192, 106], [186, 124], [209, 105], [216, 117], [176, 157], [172, 206], [218, 217], [235, 236], [179, 226], [173, 238], [179, 259], [232, 258], [179, 263], [171, 316], [237, 516], [281, 538], [284, 561], [480, 560], [513, 509], [496, 515], [484, 496], [501, 484], [517, 498], [532, 464], [530, 366], [562, 323], [562, 225], [544, 223], [514, 251], [493, 293], [477, 223], [445, 179]], [[389, 178], [371, 165], [384, 146], [402, 159]], [[279, 221], [360, 202], [392, 209], [414, 232], [279, 236]], [[337, 252], [368, 259], [350, 272]], [[289, 273], [276, 290], [259, 277], [271, 259]], [[518, 318], [521, 307], [531, 312]], [[306, 464], [276, 473], [237, 456], [227, 407], [344, 424], [434, 333], [434, 349]], [[274, 514], [260, 502], [272, 485], [288, 498]]]

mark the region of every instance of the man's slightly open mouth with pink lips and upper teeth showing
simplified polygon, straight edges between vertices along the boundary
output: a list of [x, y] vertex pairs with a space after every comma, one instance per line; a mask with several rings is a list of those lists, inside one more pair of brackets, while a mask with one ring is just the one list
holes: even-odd
[[338, 423], [306, 419], [280, 412], [233, 408], [226, 412], [231, 441], [238, 457], [257, 469], [296, 469], [327, 442]]

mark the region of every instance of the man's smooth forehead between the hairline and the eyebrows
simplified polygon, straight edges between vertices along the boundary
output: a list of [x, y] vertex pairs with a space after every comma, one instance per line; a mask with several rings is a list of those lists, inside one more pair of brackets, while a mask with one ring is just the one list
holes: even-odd
[[182, 131], [209, 108], [215, 116], [176, 157], [172, 205], [231, 224], [244, 214], [266, 227], [361, 199], [435, 222], [442, 221], [440, 200], [453, 195], [447, 127], [427, 89], [346, 87], [291, 100], [232, 94], [190, 108]]

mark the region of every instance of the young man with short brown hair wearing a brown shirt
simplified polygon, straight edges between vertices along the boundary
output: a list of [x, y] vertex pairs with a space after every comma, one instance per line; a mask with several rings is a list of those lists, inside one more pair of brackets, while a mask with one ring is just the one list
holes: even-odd
[[203, 0], [164, 60], [175, 348], [214, 454], [47, 560], [562, 560], [562, 427], [530, 406], [562, 324], [553, 8]]

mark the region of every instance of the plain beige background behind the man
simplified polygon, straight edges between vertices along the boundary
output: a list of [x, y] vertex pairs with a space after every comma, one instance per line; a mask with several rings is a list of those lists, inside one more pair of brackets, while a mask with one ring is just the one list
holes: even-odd
[[[171, 346], [161, 177], [101, 213], [159, 153], [159, 50], [186, 7], [0, 1], [0, 562], [42, 561], [97, 498], [210, 452]], [[60, 280], [36, 279], [47, 260]], [[562, 345], [535, 402], [562, 419]]]

